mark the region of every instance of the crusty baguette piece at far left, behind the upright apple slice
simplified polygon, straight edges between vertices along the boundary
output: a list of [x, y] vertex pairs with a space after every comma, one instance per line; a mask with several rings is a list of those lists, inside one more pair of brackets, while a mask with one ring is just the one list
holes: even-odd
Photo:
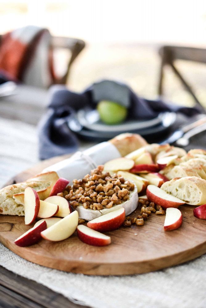
[[51, 188], [59, 176], [56, 172], [47, 172], [36, 175], [26, 182], [6, 186], [0, 190], [0, 213], [4, 215], [24, 216], [24, 190], [26, 187], [34, 188], [40, 200], [49, 197]]

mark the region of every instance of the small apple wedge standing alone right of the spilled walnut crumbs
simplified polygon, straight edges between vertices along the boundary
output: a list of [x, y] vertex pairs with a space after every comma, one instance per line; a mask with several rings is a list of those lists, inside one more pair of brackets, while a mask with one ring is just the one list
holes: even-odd
[[182, 213], [179, 209], [168, 208], [164, 221], [164, 230], [172, 231], [178, 229], [182, 225]]

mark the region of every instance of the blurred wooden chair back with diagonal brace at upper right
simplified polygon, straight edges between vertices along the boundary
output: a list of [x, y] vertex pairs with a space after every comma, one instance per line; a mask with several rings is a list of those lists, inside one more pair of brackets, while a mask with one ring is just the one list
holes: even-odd
[[[164, 77], [164, 66], [170, 65], [175, 75], [181, 80], [183, 86], [192, 95], [198, 105], [201, 106], [199, 99], [196, 97], [192, 87], [181, 75], [177, 67], [175, 66], [175, 60], [188, 60], [200, 63], [206, 63], [206, 49], [193, 48], [193, 47], [180, 47], [180, 46], [163, 46], [159, 49], [159, 55], [161, 57], [161, 68], [159, 75], [159, 95], [163, 95], [163, 77]], [[201, 106], [201, 108], [203, 108]]]

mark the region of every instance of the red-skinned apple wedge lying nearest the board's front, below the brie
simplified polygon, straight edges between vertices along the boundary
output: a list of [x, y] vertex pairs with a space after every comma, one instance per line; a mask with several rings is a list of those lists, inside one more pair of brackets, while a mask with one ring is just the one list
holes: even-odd
[[78, 225], [77, 234], [81, 241], [89, 245], [106, 246], [111, 243], [111, 237], [84, 225]]

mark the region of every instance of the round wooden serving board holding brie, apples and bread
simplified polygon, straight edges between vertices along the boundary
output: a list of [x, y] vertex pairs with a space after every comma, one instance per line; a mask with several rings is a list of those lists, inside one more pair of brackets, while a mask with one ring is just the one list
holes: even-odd
[[[56, 157], [15, 176], [20, 182], [46, 166], [68, 156]], [[95, 247], [81, 242], [76, 232], [67, 240], [41, 240], [30, 247], [19, 247], [14, 240], [31, 226], [24, 217], [0, 215], [0, 241], [26, 260], [50, 268], [89, 275], [140, 274], [192, 260], [206, 253], [206, 221], [193, 216], [192, 206], [181, 206], [182, 226], [171, 232], [163, 229], [165, 216], [152, 214], [144, 226], [121, 227], [108, 232], [111, 244]], [[137, 215], [138, 210], [133, 215]], [[33, 226], [33, 225], [32, 225]]]

